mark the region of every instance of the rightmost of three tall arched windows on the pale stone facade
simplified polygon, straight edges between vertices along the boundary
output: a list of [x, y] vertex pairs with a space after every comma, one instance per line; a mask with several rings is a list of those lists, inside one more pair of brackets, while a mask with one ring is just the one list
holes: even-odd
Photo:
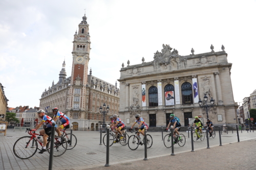
[[192, 86], [190, 83], [183, 83], [181, 86], [182, 104], [193, 104]]

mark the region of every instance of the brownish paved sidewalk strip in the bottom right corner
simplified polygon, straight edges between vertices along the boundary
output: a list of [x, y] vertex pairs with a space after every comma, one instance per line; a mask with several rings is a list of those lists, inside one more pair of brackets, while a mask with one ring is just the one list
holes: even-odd
[[[88, 169], [256, 169], [256, 139], [224, 144], [221, 147], [175, 153], [157, 158], [104, 165]], [[122, 157], [122, 153], [119, 154]], [[117, 160], [118, 161], [118, 160]]]

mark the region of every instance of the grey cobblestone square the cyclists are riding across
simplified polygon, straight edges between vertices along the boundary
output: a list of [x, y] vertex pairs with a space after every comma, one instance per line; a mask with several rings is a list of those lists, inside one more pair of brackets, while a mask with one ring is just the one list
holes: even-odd
[[[105, 161], [106, 161], [106, 154], [105, 154], [106, 147], [103, 144], [99, 145], [100, 133], [93, 132], [93, 131], [89, 131], [89, 132], [88, 131], [73, 131], [73, 133], [76, 135], [77, 140], [78, 140], [76, 147], [73, 150], [67, 150], [66, 153], [60, 157], [54, 157], [53, 158], [53, 160], [54, 160], [53, 169], [84, 169], [84, 168], [91, 168], [91, 167], [94, 167], [94, 169], [95, 169], [95, 167], [97, 167], [99, 169], [102, 168], [102, 166], [105, 164]], [[178, 157], [178, 158], [180, 158], [179, 160], [181, 160], [180, 155], [182, 155], [182, 154], [180, 154], [180, 153], [186, 152], [189, 154], [193, 154], [193, 155], [191, 155], [191, 157], [189, 157], [191, 159], [195, 159], [197, 157], [205, 158], [205, 156], [204, 155], [202, 156], [202, 154], [201, 154], [201, 152], [203, 152], [204, 150], [201, 150], [201, 149], [207, 147], [206, 138], [204, 141], [194, 142], [195, 152], [190, 152], [191, 151], [191, 138], [188, 138], [188, 134], [186, 132], [181, 132], [181, 133], [183, 133], [186, 136], [186, 143], [185, 143], [184, 147], [179, 147], [179, 145], [175, 144], [174, 152], [175, 152], [176, 156], [172, 156], [172, 157], [175, 157], [175, 158]], [[128, 134], [132, 135], [132, 133], [128, 133]], [[161, 160], [162, 158], [164, 158], [162, 156], [167, 156], [167, 155], [170, 155], [170, 153], [172, 153], [171, 149], [167, 149], [164, 147], [161, 132], [148, 132], [148, 134], [151, 134], [153, 137], [153, 145], [150, 149], [147, 150], [147, 157], [150, 160], [145, 161], [145, 162], [148, 163], [148, 162], [151, 162], [151, 160], [154, 161], [155, 159]], [[164, 135], [166, 135], [166, 134], [167, 133], [164, 132]], [[103, 135], [105, 135], [105, 133], [102, 133], [102, 138], [103, 138]], [[48, 164], [49, 164], [49, 153], [48, 152], [46, 152], [44, 154], [36, 153], [33, 157], [31, 157], [29, 159], [19, 159], [13, 154], [13, 151], [12, 151], [13, 144], [19, 137], [23, 137], [23, 136], [29, 136], [29, 135], [27, 133], [25, 133], [24, 130], [13, 132], [12, 129], [8, 129], [6, 136], [4, 136], [4, 134], [0, 134], [0, 143], [1, 143], [0, 144], [0, 151], [1, 151], [0, 152], [0, 157], [1, 157], [0, 169], [5, 169], [5, 170], [6, 169], [37, 169], [37, 170], [48, 169]], [[236, 145], [237, 135], [236, 135], [235, 131], [233, 134], [231, 131], [229, 131], [228, 134], [223, 133], [221, 136], [222, 136], [222, 138], [221, 138], [222, 144], [235, 142], [230, 145], [231, 145], [231, 147], [233, 145]], [[256, 132], [247, 133], [246, 131], [243, 131], [243, 133], [241, 133], [241, 131], [240, 131], [239, 136], [240, 136], [240, 141], [248, 140], [248, 139], [251, 139], [251, 141], [255, 141], [254, 139], [252, 140], [252, 138], [256, 138]], [[223, 147], [214, 147], [214, 145], [219, 145], [219, 143], [220, 143], [219, 134], [216, 133], [216, 138], [209, 139], [209, 144], [210, 144], [211, 148], [207, 149], [207, 152], [211, 151], [211, 153], [214, 153], [216, 148], [224, 148], [227, 146], [227, 145], [225, 145]], [[240, 150], [243, 153], [245, 153], [243, 151], [243, 147], [245, 147], [244, 143], [245, 142], [238, 143], [240, 146]], [[237, 148], [237, 147], [234, 147], [234, 148]], [[212, 152], [212, 150], [214, 152]], [[230, 152], [230, 151], [231, 150], [227, 150], [226, 153], [229, 153], [231, 156], [235, 156], [234, 154], [232, 154], [233, 151], [232, 152]], [[37, 151], [37, 152], [39, 152], [39, 151]], [[197, 153], [199, 153], [199, 152], [200, 152], [200, 155], [197, 156]], [[223, 160], [223, 158], [221, 157], [222, 154], [220, 153], [218, 155], [220, 155], [220, 156], [217, 157], [215, 155], [214, 157], [217, 157], [217, 158], [220, 158], [220, 160]], [[240, 155], [241, 155], [241, 153], [240, 153]], [[161, 156], [161, 158], [160, 158], [160, 156]], [[159, 158], [157, 158], [157, 157], [159, 157]], [[115, 143], [112, 145], [112, 147], [110, 147], [110, 164], [112, 165], [111, 167], [113, 167], [113, 168], [115, 167], [114, 164], [116, 164], [116, 163], [125, 163], [125, 164], [129, 165], [130, 163], [134, 163], [134, 161], [143, 160], [143, 158], [144, 158], [144, 146], [139, 146], [138, 149], [135, 151], [130, 150], [128, 145], [122, 146], [120, 143]], [[243, 156], [241, 159], [245, 159], [245, 158], [247, 158], [247, 157]], [[237, 160], [239, 160], [239, 162], [246, 161], [246, 160], [241, 160], [241, 159], [237, 156]], [[184, 160], [186, 160], [186, 159], [184, 159]], [[187, 158], [187, 160], [188, 160], [188, 158]], [[154, 162], [156, 164], [156, 161], [154, 161]], [[170, 165], [169, 161], [165, 161], [165, 162], [168, 162]], [[186, 162], [178, 163], [178, 165], [183, 166], [186, 164]], [[204, 162], [204, 160], [202, 160], [202, 162]], [[239, 162], [237, 161], [237, 163], [239, 163]], [[129, 168], [132, 167], [132, 164], [131, 164], [131, 166], [129, 165], [127, 167], [129, 167]], [[193, 167], [193, 166], [191, 166], [191, 164], [190, 164], [189, 167]], [[148, 166], [147, 168], [150, 169], [151, 167]], [[184, 169], [184, 168], [180, 167], [180, 169]]]

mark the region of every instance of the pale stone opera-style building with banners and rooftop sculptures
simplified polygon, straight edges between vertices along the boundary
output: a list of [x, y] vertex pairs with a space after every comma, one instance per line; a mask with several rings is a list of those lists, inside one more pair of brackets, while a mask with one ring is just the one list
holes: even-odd
[[192, 48], [190, 55], [181, 56], [163, 44], [153, 61], [142, 58], [141, 64], [130, 65], [129, 60], [126, 67], [122, 64], [119, 117], [131, 126], [134, 115], [140, 113], [150, 127], [165, 127], [169, 114], [175, 113], [182, 126], [188, 126], [189, 118], [194, 116], [202, 116], [205, 124], [206, 113], [198, 101], [206, 95], [208, 102], [215, 100], [208, 113], [214, 125], [237, 123], [238, 105], [233, 100], [230, 79], [232, 64], [223, 45], [221, 52], [215, 52], [212, 45], [210, 49], [209, 53], [194, 54]]

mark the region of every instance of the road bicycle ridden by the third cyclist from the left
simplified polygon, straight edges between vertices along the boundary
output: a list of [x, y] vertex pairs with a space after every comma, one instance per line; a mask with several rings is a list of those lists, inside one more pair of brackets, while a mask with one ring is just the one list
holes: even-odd
[[[126, 133], [126, 127], [124, 127], [123, 129], [121, 129], [121, 131], [124, 131], [124, 133], [122, 133], [123, 138], [120, 139], [121, 136], [116, 136], [116, 131], [113, 129], [110, 129], [110, 147], [112, 146], [112, 144], [114, 143], [114, 140], [116, 140], [116, 143], [120, 143], [121, 145], [126, 145], [127, 144], [127, 139], [129, 138], [129, 135], [127, 135]], [[103, 137], [103, 144], [106, 146], [106, 135], [104, 135]]]

